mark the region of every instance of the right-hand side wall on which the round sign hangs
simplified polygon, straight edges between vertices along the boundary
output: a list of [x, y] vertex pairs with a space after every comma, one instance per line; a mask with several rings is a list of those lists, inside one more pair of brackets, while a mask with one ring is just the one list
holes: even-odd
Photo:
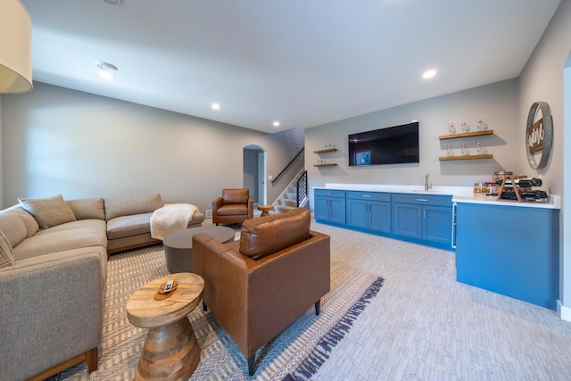
[[[550, 104], [553, 115], [554, 144], [547, 168], [539, 170], [538, 174], [542, 174], [544, 182], [549, 185], [553, 194], [563, 195], [562, 253], [560, 256], [562, 282], [559, 298], [565, 306], [564, 311], [567, 310], [567, 318], [564, 317], [564, 319], [571, 320], [571, 243], [564, 240], [564, 236], [571, 236], [571, 213], [567, 213], [567, 217], [565, 213], [569, 209], [566, 199], [567, 196], [571, 197], [571, 189], [569, 186], [564, 187], [565, 183], [569, 184], [569, 176], [571, 176], [567, 175], [566, 178], [564, 171], [564, 156], [567, 156], [566, 162], [569, 164], [568, 151], [571, 146], [571, 139], [564, 136], [564, 130], [567, 128], [568, 132], [571, 128], [568, 118], [571, 108], [567, 106], [567, 117], [564, 112], [564, 69], [569, 53], [571, 53], [571, 0], [562, 0], [520, 75], [518, 115], [521, 128], [517, 138], [520, 145], [525, 144], [525, 120], [530, 106], [536, 101], [545, 101]], [[569, 104], [568, 99], [566, 102]], [[567, 145], [565, 145], [566, 141]], [[564, 153], [565, 148], [567, 148], [567, 155]], [[520, 153], [520, 160], [525, 162], [525, 152]], [[565, 232], [567, 234], [564, 234]]]

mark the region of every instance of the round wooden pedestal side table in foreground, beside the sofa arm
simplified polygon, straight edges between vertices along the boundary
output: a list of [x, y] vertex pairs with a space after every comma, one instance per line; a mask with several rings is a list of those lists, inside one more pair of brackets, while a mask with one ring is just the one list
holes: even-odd
[[[154, 300], [159, 287], [173, 279], [177, 289], [164, 300]], [[128, 320], [149, 328], [136, 380], [187, 380], [200, 361], [200, 346], [186, 317], [203, 298], [202, 277], [180, 272], [159, 277], [141, 286], [128, 298]]]

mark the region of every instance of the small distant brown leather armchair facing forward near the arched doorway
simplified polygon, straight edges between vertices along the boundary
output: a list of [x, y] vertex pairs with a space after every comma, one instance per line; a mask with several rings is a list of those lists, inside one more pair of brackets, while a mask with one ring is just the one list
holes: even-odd
[[253, 217], [253, 198], [248, 188], [222, 189], [222, 197], [212, 201], [212, 223], [233, 224]]

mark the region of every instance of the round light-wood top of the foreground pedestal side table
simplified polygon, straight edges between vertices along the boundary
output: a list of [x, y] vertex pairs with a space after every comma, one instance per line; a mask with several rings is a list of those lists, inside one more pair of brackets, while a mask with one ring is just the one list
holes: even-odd
[[[167, 299], [154, 300], [159, 287], [170, 279], [178, 281], [177, 289]], [[203, 289], [203, 277], [189, 272], [154, 279], [129, 296], [126, 306], [128, 320], [141, 328], [166, 326], [193, 311], [202, 300]]]

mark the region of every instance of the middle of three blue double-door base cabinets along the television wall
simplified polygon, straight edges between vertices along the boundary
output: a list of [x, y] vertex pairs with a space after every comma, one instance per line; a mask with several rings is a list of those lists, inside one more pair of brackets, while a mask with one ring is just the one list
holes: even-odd
[[391, 232], [391, 194], [378, 192], [346, 192], [347, 226]]

